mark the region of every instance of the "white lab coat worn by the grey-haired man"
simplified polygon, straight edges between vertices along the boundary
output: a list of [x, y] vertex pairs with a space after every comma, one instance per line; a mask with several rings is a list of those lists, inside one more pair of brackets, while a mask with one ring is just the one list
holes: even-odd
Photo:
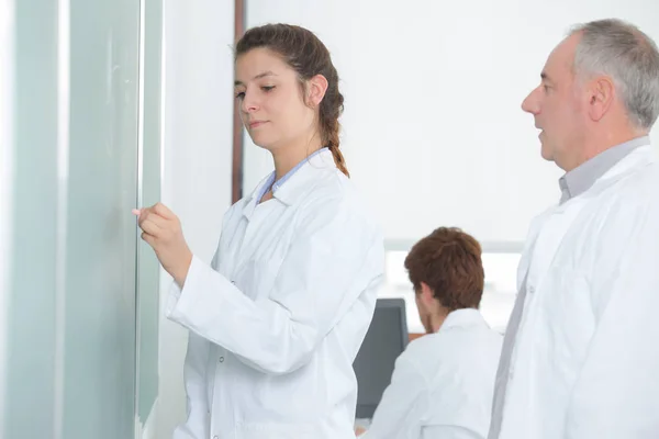
[[659, 438], [659, 166], [650, 146], [532, 225], [499, 439]]

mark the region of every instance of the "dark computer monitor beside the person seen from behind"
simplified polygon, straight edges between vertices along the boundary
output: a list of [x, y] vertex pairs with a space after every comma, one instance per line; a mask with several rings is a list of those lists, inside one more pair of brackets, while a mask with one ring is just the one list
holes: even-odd
[[358, 385], [356, 418], [372, 418], [407, 340], [405, 301], [378, 299], [373, 319], [353, 363]]

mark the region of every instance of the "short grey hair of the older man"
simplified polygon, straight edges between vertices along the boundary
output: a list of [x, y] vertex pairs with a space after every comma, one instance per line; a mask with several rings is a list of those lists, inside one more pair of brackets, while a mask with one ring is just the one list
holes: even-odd
[[581, 34], [574, 74], [608, 76], [636, 127], [650, 130], [659, 115], [659, 50], [648, 35], [622, 20], [599, 20], [572, 27]]

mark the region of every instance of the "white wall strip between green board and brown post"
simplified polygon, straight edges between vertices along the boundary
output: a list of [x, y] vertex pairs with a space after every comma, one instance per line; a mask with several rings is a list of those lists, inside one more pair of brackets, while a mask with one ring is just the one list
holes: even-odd
[[[192, 251], [210, 261], [231, 202], [234, 2], [165, 1], [163, 201]], [[171, 280], [161, 278], [161, 305]], [[185, 419], [187, 331], [160, 322], [157, 438]]]

